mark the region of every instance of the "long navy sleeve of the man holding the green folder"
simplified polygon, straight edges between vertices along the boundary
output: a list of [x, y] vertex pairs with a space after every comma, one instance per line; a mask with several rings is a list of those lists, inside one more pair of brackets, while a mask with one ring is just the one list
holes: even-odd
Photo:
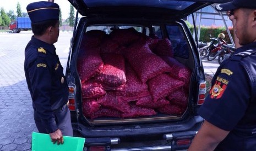
[[32, 89], [32, 100], [35, 110], [42, 119], [48, 133], [55, 132], [58, 127], [51, 109], [51, 70], [44, 59], [37, 58], [29, 68]]

